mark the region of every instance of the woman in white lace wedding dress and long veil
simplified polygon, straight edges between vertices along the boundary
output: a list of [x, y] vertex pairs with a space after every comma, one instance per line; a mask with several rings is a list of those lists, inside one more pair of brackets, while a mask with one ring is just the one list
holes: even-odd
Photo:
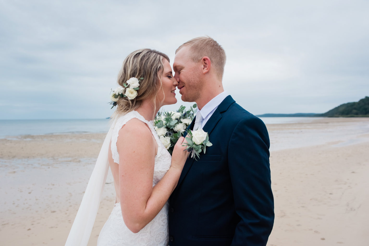
[[[108, 167], [115, 205], [101, 229], [98, 246], [168, 245], [168, 198], [188, 152], [176, 143], [172, 156], [155, 132], [153, 120], [163, 105], [174, 104], [178, 85], [165, 54], [139, 49], [125, 58], [113, 123], [97, 158], [65, 245], [87, 245]], [[113, 95], [114, 96], [114, 95]]]

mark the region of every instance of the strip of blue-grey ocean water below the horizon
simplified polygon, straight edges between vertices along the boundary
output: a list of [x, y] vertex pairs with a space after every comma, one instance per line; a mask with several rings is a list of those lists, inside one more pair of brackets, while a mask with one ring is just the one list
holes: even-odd
[[[265, 124], [311, 122], [315, 117], [261, 117]], [[22, 119], [0, 120], [0, 138], [20, 135], [104, 133], [109, 119]]]

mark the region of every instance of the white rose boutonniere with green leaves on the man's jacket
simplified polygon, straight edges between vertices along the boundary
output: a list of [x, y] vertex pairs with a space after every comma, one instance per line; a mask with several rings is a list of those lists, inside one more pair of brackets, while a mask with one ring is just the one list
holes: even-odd
[[200, 157], [201, 151], [206, 152], [206, 147], [213, 145], [209, 142], [209, 135], [207, 132], [204, 132], [203, 129], [198, 129], [196, 131], [191, 131], [190, 129], [187, 132], [186, 136], [187, 143], [187, 151], [191, 152], [191, 157], [196, 160], [196, 157]]

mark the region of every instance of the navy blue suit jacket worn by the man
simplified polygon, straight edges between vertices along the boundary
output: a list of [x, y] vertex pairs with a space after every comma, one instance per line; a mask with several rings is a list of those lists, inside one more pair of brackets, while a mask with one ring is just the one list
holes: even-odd
[[203, 130], [213, 146], [189, 157], [170, 196], [169, 245], [265, 246], [274, 221], [265, 124], [228, 96]]

